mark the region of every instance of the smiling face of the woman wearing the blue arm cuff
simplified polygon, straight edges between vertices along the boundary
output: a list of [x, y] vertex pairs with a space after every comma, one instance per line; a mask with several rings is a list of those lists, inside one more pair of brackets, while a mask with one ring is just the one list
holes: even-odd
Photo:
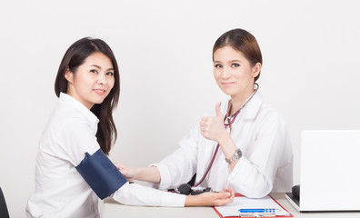
[[114, 66], [105, 54], [95, 52], [86, 57], [75, 72], [67, 70], [67, 94], [74, 97], [85, 107], [103, 103], [115, 84]]

